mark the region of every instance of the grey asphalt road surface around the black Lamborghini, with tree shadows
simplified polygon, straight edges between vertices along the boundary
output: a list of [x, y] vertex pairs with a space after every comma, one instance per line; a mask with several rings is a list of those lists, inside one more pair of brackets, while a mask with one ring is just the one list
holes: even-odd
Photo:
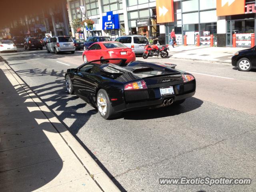
[[[231, 64], [169, 62], [196, 77], [194, 97], [180, 106], [125, 112], [104, 120], [64, 87], [64, 72], [82, 64], [82, 51], [1, 53], [123, 191], [256, 191], [256, 70]], [[143, 58], [138, 57], [138, 60]], [[160, 185], [159, 178], [251, 178], [251, 185]]]

